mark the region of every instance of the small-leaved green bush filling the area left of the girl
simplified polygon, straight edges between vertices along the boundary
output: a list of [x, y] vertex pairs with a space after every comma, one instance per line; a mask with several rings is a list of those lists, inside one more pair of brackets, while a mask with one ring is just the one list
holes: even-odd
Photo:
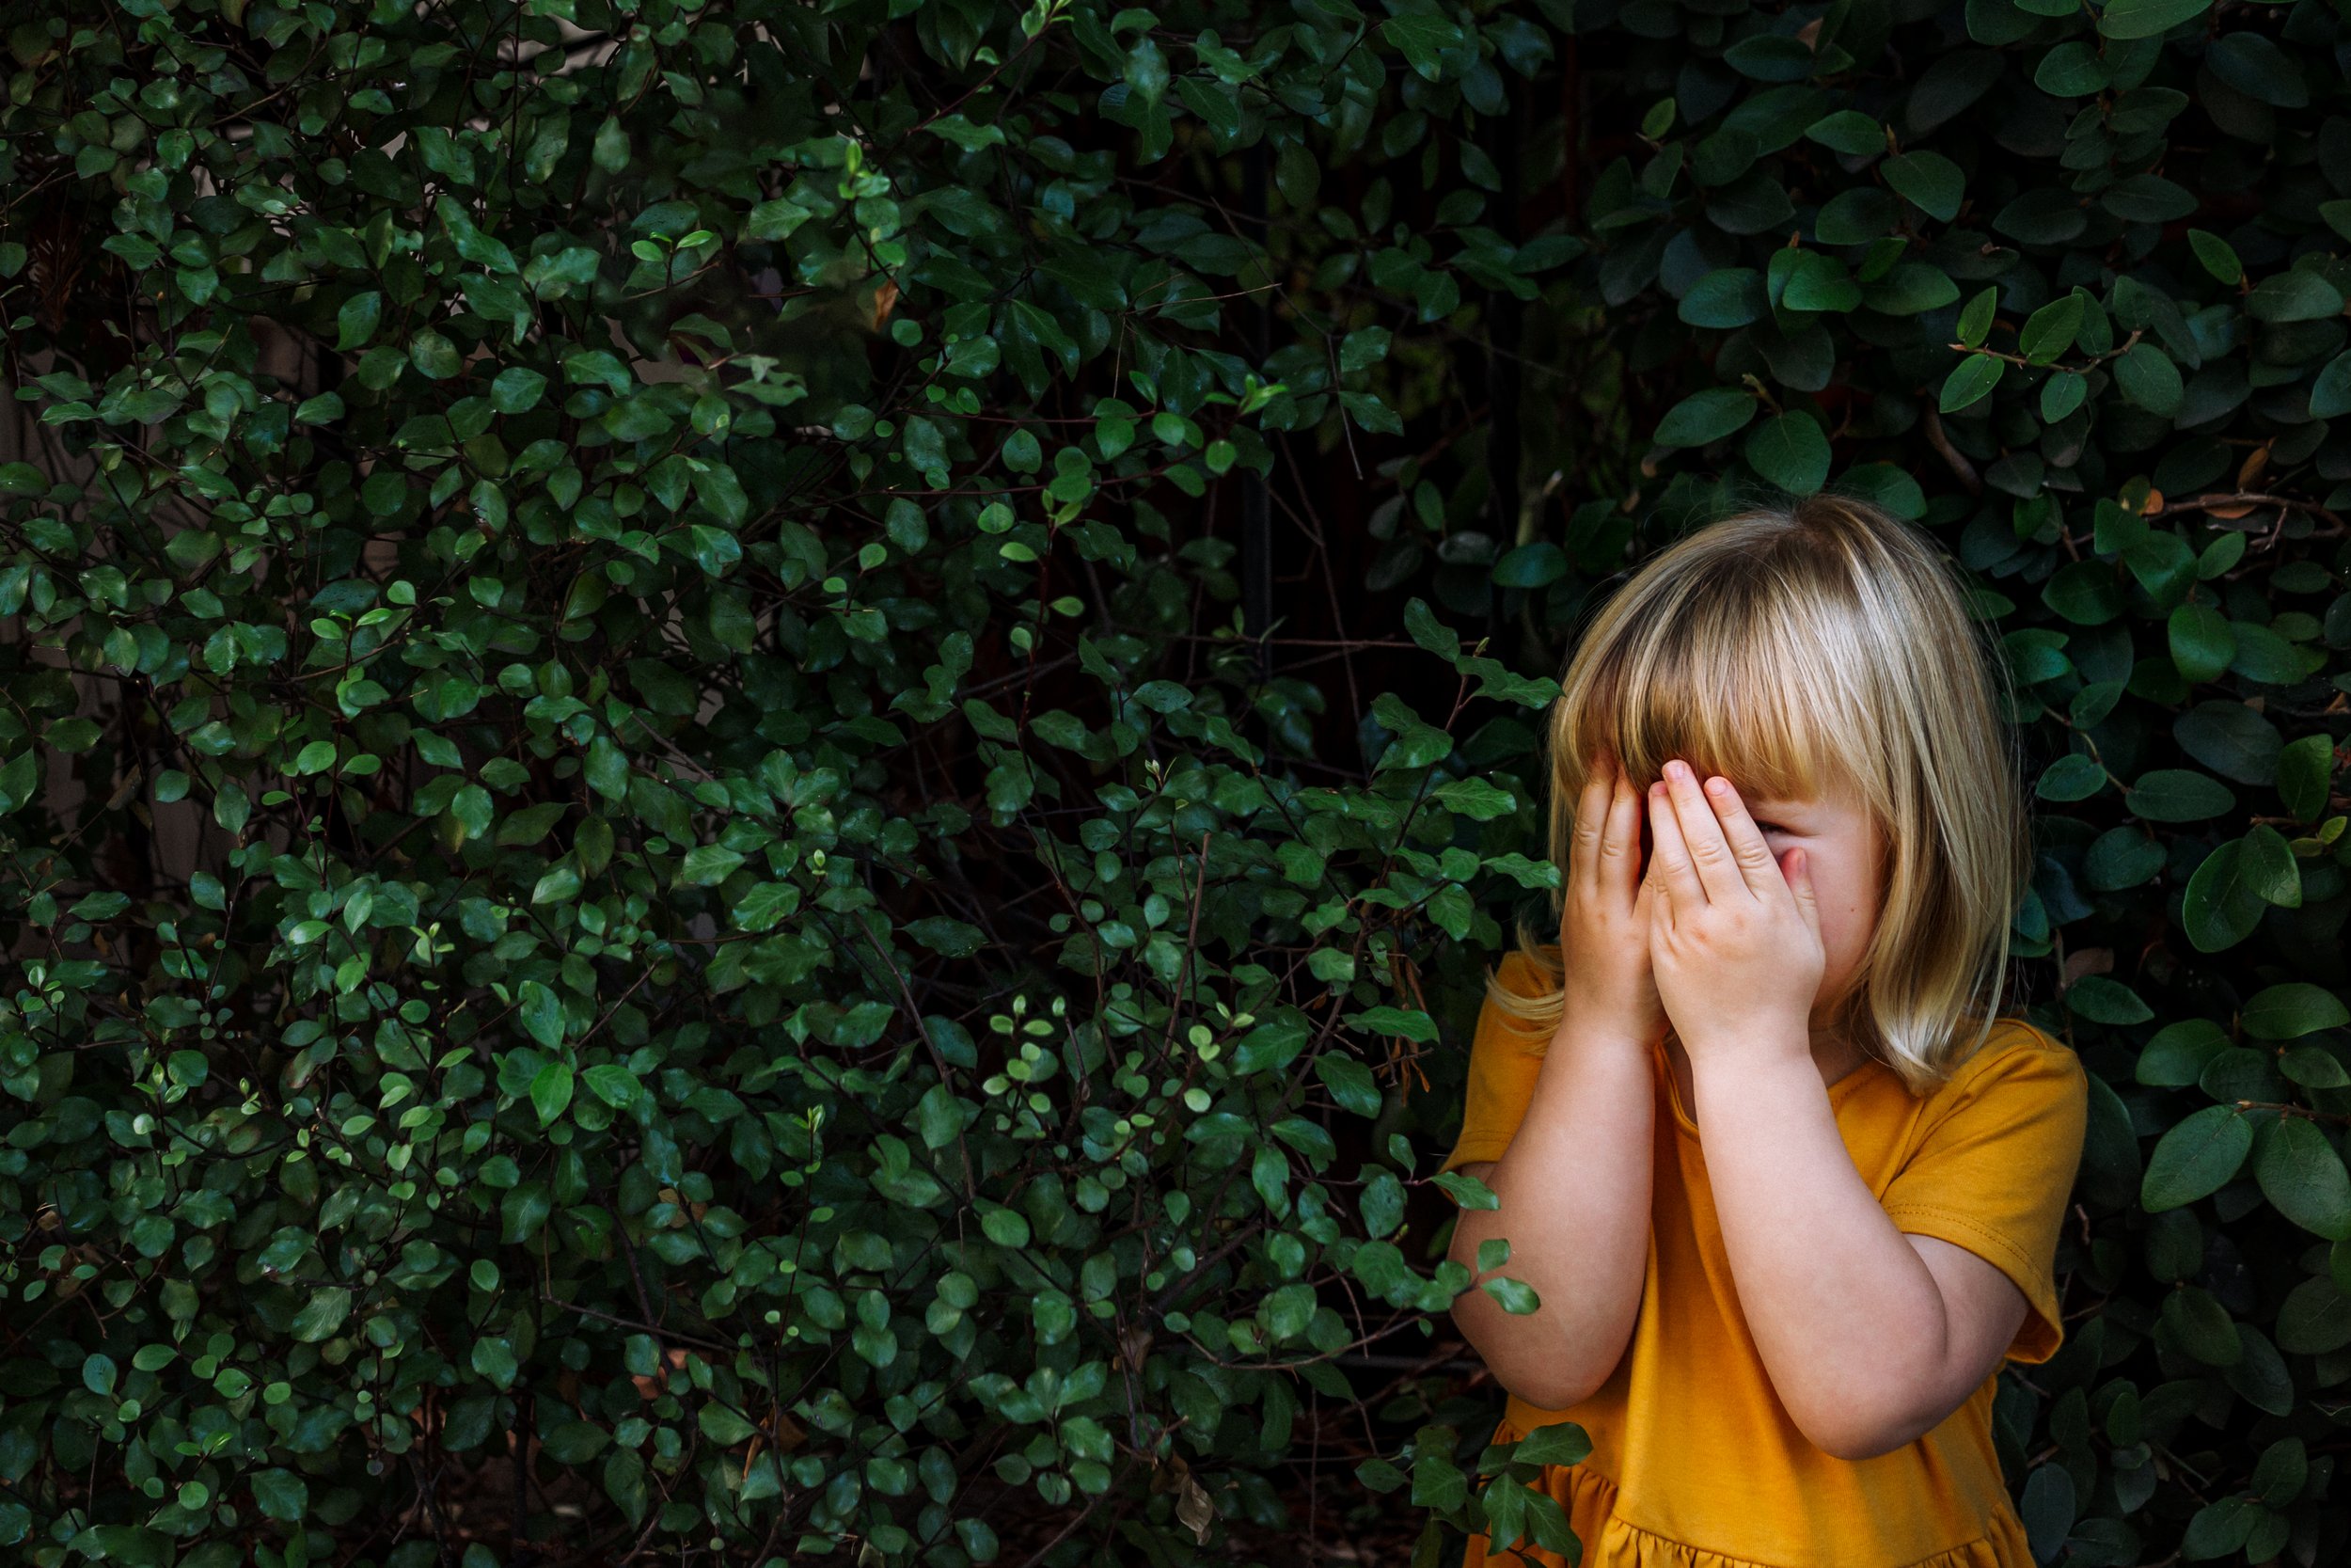
[[[1465, 1284], [1399, 1246], [1418, 966], [1549, 870], [1523, 724], [1382, 693], [1300, 776], [1201, 498], [1575, 254], [1436, 160], [1545, 31], [14, 16], [12, 1561], [1279, 1523], [1302, 1396]], [[1469, 183], [1366, 254], [1392, 165]], [[1552, 691], [1411, 628], [1451, 719]]]

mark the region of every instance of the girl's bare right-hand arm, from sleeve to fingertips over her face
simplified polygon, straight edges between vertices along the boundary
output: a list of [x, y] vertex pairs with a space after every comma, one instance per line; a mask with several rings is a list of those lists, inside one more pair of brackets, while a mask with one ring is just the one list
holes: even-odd
[[1888, 1453], [1994, 1373], [2024, 1293], [1965, 1248], [1904, 1237], [1855, 1171], [1810, 1048], [1824, 952], [1803, 851], [1782, 872], [1737, 792], [1679, 764], [1650, 827], [1650, 959], [1690, 1053], [1740, 1312], [1806, 1439]]

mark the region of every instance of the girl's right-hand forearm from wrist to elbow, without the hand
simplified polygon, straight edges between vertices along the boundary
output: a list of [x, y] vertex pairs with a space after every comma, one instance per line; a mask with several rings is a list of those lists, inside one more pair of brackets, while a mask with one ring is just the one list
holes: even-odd
[[1909, 1441], [1942, 1415], [1925, 1408], [1951, 1354], [1942, 1291], [1855, 1171], [1810, 1051], [1702, 1058], [1695, 1091], [1740, 1312], [1780, 1403], [1838, 1458]]

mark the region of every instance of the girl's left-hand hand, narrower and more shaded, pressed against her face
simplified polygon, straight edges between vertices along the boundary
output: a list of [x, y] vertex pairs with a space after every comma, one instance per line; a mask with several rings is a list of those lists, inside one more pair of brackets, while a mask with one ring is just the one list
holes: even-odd
[[1665, 1004], [1648, 961], [1648, 877], [1641, 875], [1641, 792], [1601, 757], [1575, 804], [1568, 889], [1559, 917], [1566, 971], [1561, 1032], [1627, 1044], [1665, 1037]]

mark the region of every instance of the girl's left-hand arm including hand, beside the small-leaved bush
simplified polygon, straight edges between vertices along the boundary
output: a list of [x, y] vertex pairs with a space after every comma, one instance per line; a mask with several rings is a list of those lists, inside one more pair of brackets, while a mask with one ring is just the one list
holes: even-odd
[[1540, 1307], [1514, 1316], [1472, 1288], [1453, 1302], [1453, 1321], [1505, 1389], [1545, 1410], [1608, 1380], [1648, 1276], [1650, 1039], [1665, 1009], [1648, 973], [1639, 860], [1641, 797], [1613, 766], [1596, 766], [1568, 853], [1559, 1030], [1519, 1131], [1481, 1175], [1500, 1208], [1465, 1208], [1448, 1253], [1476, 1274], [1479, 1244], [1509, 1241], [1491, 1276], [1526, 1281]]

